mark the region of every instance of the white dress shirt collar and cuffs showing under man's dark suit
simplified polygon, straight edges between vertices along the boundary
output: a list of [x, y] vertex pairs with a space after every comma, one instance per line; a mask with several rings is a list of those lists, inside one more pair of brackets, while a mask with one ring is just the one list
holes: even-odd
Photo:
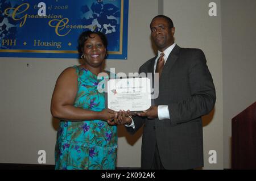
[[[172, 49], [174, 49], [175, 45], [176, 45], [176, 43], [172, 44], [170, 47], [168, 47], [167, 49], [165, 49], [163, 51], [163, 53], [164, 53], [164, 57], [163, 57], [164, 58], [164, 64], [166, 64], [167, 58], [170, 55], [170, 53], [172, 52]], [[158, 57], [156, 57], [155, 64], [154, 64], [154, 73], [155, 73], [155, 69], [156, 69], [156, 64], [158, 62], [158, 58], [160, 57], [161, 53], [162, 52], [160, 52], [158, 50]], [[158, 119], [159, 120], [170, 119], [170, 113], [169, 113], [169, 110], [168, 110], [168, 105], [158, 105]], [[131, 119], [131, 124], [130, 125], [125, 124], [125, 126], [135, 128], [133, 119]]]

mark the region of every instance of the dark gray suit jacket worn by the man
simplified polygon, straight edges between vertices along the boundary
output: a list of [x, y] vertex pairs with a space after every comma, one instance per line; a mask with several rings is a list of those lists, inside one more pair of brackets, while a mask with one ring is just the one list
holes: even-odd
[[[139, 73], [153, 73], [155, 59], [139, 68]], [[154, 75], [154, 74], [153, 74]], [[175, 46], [159, 79], [159, 96], [155, 105], [168, 105], [170, 119], [149, 120], [133, 117], [135, 133], [142, 125], [142, 169], [152, 166], [157, 143], [165, 169], [203, 167], [203, 127], [201, 116], [214, 107], [216, 93], [212, 75], [200, 49]]]

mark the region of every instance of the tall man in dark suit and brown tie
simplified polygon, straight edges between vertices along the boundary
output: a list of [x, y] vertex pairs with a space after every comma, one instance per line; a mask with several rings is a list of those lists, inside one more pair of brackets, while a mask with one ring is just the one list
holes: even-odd
[[176, 45], [175, 28], [167, 16], [155, 16], [150, 29], [158, 55], [144, 63], [139, 73], [159, 73], [159, 96], [155, 106], [133, 119], [129, 112], [123, 113], [122, 124], [130, 133], [144, 125], [142, 169], [203, 167], [201, 116], [208, 114], [216, 101], [204, 53]]

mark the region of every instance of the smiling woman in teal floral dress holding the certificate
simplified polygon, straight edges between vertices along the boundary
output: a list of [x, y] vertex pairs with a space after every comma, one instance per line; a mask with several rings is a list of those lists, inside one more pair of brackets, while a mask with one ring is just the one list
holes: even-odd
[[[104, 72], [107, 41], [101, 32], [83, 32], [79, 53], [84, 64], [65, 69], [56, 82], [51, 112], [59, 118], [55, 169], [115, 169], [116, 113], [105, 108], [104, 88], [97, 79]], [[100, 89], [99, 88], [99, 89]]]

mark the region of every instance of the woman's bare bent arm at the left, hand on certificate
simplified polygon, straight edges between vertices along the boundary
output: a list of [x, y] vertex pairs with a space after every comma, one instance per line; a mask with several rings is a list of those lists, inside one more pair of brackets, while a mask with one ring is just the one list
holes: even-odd
[[114, 119], [115, 112], [109, 109], [100, 112], [73, 106], [77, 94], [77, 74], [74, 68], [65, 69], [57, 79], [52, 94], [51, 113], [61, 120], [104, 120]]

